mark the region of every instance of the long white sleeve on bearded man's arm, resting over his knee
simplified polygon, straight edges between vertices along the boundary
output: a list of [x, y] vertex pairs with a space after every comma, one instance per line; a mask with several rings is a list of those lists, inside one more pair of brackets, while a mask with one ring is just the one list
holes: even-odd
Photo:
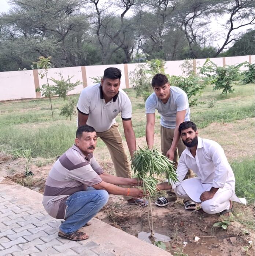
[[219, 144], [211, 145], [209, 148], [209, 154], [212, 156], [212, 162], [215, 166], [212, 187], [223, 188], [228, 177], [228, 170], [231, 169], [231, 167], [223, 148]]

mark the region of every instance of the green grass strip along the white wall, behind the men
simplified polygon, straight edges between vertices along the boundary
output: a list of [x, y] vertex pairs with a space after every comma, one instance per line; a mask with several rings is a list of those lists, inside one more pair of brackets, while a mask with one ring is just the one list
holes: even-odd
[[[199, 128], [212, 122], [232, 122], [255, 116], [254, 84], [235, 86], [233, 94], [221, 95], [212, 87], [204, 89], [197, 106], [191, 107], [191, 119]], [[137, 138], [145, 136], [146, 114], [144, 100], [136, 97], [134, 89], [126, 89], [132, 101], [132, 123]], [[78, 98], [79, 95], [72, 97]], [[215, 107], [207, 108], [204, 101], [218, 98]], [[76, 116], [66, 120], [59, 115], [59, 108], [64, 102], [52, 99], [54, 119], [48, 99], [19, 100], [0, 102], [0, 146], [4, 149], [32, 148], [33, 156], [42, 158], [63, 154], [74, 142]], [[159, 116], [156, 113], [156, 116]], [[117, 116], [119, 130], [123, 135], [121, 116]], [[155, 133], [160, 131], [160, 119], [156, 118]], [[123, 136], [123, 139], [125, 137]], [[98, 140], [98, 147], [104, 143]]]

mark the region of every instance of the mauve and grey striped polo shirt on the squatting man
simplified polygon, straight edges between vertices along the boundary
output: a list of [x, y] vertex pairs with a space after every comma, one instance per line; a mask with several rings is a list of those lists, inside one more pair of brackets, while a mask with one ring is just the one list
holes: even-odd
[[99, 184], [104, 173], [93, 154], [85, 156], [76, 146], [69, 148], [54, 163], [47, 177], [42, 204], [48, 214], [56, 219], [64, 219], [69, 195], [84, 191]]

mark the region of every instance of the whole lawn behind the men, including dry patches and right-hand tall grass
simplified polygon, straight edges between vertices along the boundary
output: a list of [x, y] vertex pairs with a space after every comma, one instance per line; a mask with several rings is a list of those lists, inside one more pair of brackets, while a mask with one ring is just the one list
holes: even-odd
[[[252, 119], [255, 117], [254, 88], [255, 84], [235, 85], [234, 93], [222, 95], [219, 91], [213, 91], [211, 86], [207, 86], [199, 96], [197, 105], [191, 107], [191, 120], [197, 124], [203, 136], [217, 141], [219, 139], [219, 143], [223, 144], [225, 150], [228, 150], [227, 143], [230, 143], [229, 145], [238, 152], [240, 143], [245, 147], [246, 139], [254, 141], [254, 119]], [[126, 89], [125, 91], [132, 101], [132, 123], [137, 141], [144, 144], [146, 125], [144, 101], [142, 98], [136, 98], [134, 89]], [[78, 96], [73, 95], [72, 97], [78, 98]], [[214, 101], [213, 107], [209, 106], [212, 99]], [[49, 158], [63, 154], [74, 142], [76, 116], [73, 116], [71, 120], [66, 120], [59, 115], [59, 108], [63, 105], [63, 101], [59, 98], [53, 98], [52, 105], [53, 119], [48, 99], [0, 102], [0, 148], [5, 151], [31, 148], [32, 156], [45, 159], [45, 162]], [[156, 114], [156, 117], [155, 140], [157, 138], [157, 142], [155, 144], [159, 145], [159, 114]], [[244, 122], [240, 124], [237, 123], [238, 120], [244, 120]], [[120, 124], [119, 130], [123, 134], [120, 115], [117, 117], [117, 122]], [[219, 129], [215, 133], [215, 127], [211, 126], [215, 123], [218, 125], [233, 124], [236, 137], [231, 137], [233, 132], [231, 130], [221, 132]], [[241, 135], [244, 132], [251, 134], [251, 137], [239, 142], [239, 133]], [[231, 138], [234, 138], [234, 143], [232, 143]], [[125, 137], [123, 139], [125, 140]], [[99, 154], [101, 159], [98, 160], [104, 160], [108, 151], [100, 139], [97, 147], [100, 148], [101, 152], [105, 152], [104, 156]], [[98, 148], [96, 151], [99, 151]], [[109, 155], [107, 156], [110, 158]], [[237, 154], [236, 158], [230, 157], [230, 160], [236, 173], [237, 193], [246, 196], [250, 203], [254, 202], [254, 155], [247, 159], [245, 155]], [[242, 175], [242, 173], [247, 174], [247, 176]]]

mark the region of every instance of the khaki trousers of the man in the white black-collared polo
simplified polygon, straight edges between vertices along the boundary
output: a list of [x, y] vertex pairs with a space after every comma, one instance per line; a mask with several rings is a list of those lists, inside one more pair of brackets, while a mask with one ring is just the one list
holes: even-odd
[[[116, 175], [123, 178], [131, 178], [131, 169], [127, 155], [124, 150], [123, 140], [119, 133], [118, 125], [115, 123], [110, 129], [96, 132], [97, 136], [106, 144], [114, 165]], [[129, 186], [122, 186], [129, 187]], [[131, 199], [132, 196], [123, 196], [124, 200]]]

